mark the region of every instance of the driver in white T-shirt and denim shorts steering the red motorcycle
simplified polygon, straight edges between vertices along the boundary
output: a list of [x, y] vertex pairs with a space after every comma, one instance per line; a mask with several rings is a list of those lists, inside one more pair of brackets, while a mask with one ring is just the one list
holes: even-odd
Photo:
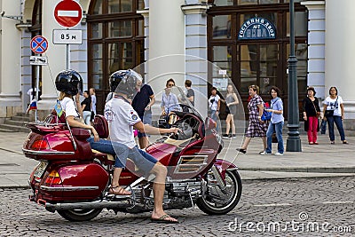
[[[135, 94], [138, 81], [143, 81], [141, 75], [138, 75], [133, 70], [121, 70], [114, 72], [110, 76], [110, 90], [114, 92], [112, 99], [106, 102], [105, 117], [109, 123], [110, 139], [119, 141], [120, 143], [129, 146], [129, 158], [135, 162], [139, 170], [143, 170], [145, 175], [153, 173], [154, 179], [154, 210], [152, 219], [161, 219], [165, 222], [177, 223], [177, 219], [170, 217], [162, 209], [162, 199], [165, 192], [165, 178], [167, 168], [158, 162], [153, 156], [142, 150], [138, 150], [133, 136], [133, 128], [140, 132], [147, 133], [170, 133], [177, 132], [177, 128], [157, 129], [148, 124], [143, 124], [137, 112], [130, 106], [128, 99], [131, 99]], [[114, 178], [118, 182], [121, 171], [114, 169]]]

